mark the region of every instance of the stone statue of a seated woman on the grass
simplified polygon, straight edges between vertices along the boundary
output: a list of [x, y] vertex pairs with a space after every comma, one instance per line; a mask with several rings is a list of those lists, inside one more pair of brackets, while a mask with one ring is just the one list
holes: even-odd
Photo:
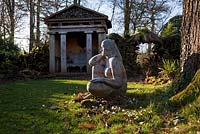
[[124, 95], [127, 89], [126, 71], [121, 54], [113, 40], [101, 43], [102, 52], [89, 60], [92, 66], [92, 80], [87, 90], [96, 97], [107, 98], [111, 95]]

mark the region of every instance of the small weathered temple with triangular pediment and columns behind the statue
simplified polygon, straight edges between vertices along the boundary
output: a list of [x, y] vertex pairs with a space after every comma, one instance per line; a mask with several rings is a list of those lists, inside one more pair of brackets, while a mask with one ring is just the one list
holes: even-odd
[[108, 16], [73, 4], [45, 18], [48, 25], [50, 73], [87, 72], [112, 27]]

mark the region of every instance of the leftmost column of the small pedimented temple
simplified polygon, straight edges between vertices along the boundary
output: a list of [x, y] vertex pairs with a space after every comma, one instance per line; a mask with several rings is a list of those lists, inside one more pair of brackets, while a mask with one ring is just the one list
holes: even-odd
[[55, 73], [55, 34], [50, 33], [50, 44], [49, 44], [49, 72]]

